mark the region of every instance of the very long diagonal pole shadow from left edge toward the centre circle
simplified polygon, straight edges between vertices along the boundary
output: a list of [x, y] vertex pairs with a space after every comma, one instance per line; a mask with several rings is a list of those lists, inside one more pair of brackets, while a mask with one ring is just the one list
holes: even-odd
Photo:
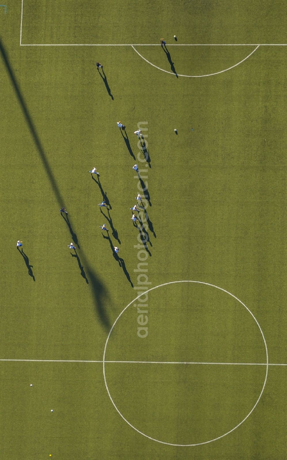
[[[58, 185], [56, 183], [54, 174], [52, 173], [50, 164], [49, 164], [49, 162], [47, 160], [45, 151], [44, 151], [43, 146], [42, 146], [42, 144], [40, 142], [40, 139], [39, 139], [38, 133], [36, 131], [36, 128], [34, 126], [34, 123], [32, 121], [31, 115], [29, 114], [28, 107], [27, 107], [27, 105], [26, 105], [26, 103], [24, 101], [22, 93], [21, 93], [21, 91], [19, 89], [19, 86], [17, 84], [16, 78], [14, 76], [13, 70], [12, 70], [11, 65], [9, 63], [9, 59], [8, 59], [8, 57], [6, 55], [6, 51], [5, 51], [5, 48], [3, 46], [3, 43], [2, 43], [1, 39], [0, 39], [0, 54], [2, 56], [2, 59], [4, 61], [5, 66], [6, 66], [8, 75], [9, 75], [10, 80], [11, 80], [11, 84], [12, 84], [12, 86], [14, 88], [14, 91], [16, 93], [18, 102], [19, 102], [19, 104], [21, 106], [21, 109], [23, 111], [23, 115], [24, 115], [25, 120], [27, 122], [27, 125], [28, 125], [28, 128], [30, 130], [31, 136], [32, 136], [32, 138], [34, 140], [34, 144], [35, 144], [36, 149], [38, 150], [39, 156], [40, 156], [40, 158], [41, 158], [41, 160], [43, 162], [43, 166], [44, 166], [46, 174], [47, 174], [47, 176], [49, 178], [52, 190], [55, 193], [56, 199], [58, 201], [58, 205], [60, 207], [66, 207], [65, 206], [65, 201], [64, 201], [64, 199], [62, 197], [62, 194], [61, 194], [61, 192], [60, 192], [60, 190], [58, 188]], [[71, 224], [71, 227], [72, 227], [72, 224]], [[105, 310], [105, 305], [104, 305], [104, 304], [112, 305], [111, 301], [109, 301], [109, 296], [108, 296], [107, 290], [104, 288], [104, 286], [100, 282], [99, 278], [96, 276], [95, 271], [90, 267], [90, 264], [89, 264], [88, 260], [86, 259], [83, 250], [82, 250], [82, 253], [81, 253], [81, 258], [82, 258], [83, 264], [84, 264], [84, 266], [86, 268], [87, 275], [88, 275], [88, 277], [90, 279], [90, 287], [92, 288], [92, 293], [93, 293], [93, 297], [94, 297], [94, 308], [95, 308], [96, 316], [100, 318], [102, 325], [105, 328], [107, 328], [107, 330], [110, 330], [111, 322], [109, 320], [109, 317], [107, 315], [107, 312]]]

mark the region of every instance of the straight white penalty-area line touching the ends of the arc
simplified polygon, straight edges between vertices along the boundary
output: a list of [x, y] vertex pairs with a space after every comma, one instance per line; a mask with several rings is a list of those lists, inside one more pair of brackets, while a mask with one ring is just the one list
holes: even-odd
[[[23, 3], [22, 3], [23, 5]], [[22, 28], [22, 22], [21, 22]], [[20, 46], [161, 46], [160, 43], [20, 43]], [[286, 43], [167, 43], [167, 46], [287, 46]]]

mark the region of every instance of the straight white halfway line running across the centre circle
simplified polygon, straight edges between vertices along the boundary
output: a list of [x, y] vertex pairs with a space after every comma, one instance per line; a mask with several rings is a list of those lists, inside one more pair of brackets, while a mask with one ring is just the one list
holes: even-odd
[[[102, 360], [81, 360], [81, 359], [0, 359], [0, 362], [100, 362]], [[219, 366], [266, 366], [266, 362], [195, 362], [195, 361], [105, 361], [122, 364], [206, 364]], [[268, 363], [268, 366], [287, 366], [285, 363]]]

